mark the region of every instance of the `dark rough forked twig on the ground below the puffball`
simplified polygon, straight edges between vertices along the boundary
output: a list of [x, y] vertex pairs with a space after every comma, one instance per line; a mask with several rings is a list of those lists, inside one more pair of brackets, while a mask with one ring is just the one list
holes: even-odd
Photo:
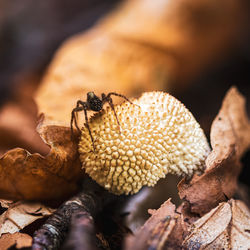
[[93, 218], [114, 196], [90, 181], [84, 186], [84, 191], [63, 203], [35, 232], [32, 250], [59, 249], [70, 224], [65, 249], [96, 249]]

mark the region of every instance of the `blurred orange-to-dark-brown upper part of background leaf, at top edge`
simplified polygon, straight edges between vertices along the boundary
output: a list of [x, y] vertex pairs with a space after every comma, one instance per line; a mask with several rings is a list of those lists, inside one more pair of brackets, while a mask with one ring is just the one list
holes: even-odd
[[183, 86], [238, 46], [248, 30], [246, 9], [235, 0], [128, 0], [99, 26], [170, 56], [168, 77]]

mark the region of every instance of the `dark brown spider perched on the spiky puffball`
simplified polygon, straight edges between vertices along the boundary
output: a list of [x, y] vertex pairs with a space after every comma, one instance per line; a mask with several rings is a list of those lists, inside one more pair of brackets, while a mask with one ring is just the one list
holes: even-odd
[[120, 128], [120, 122], [119, 122], [118, 117], [116, 115], [113, 100], [111, 98], [112, 95], [119, 96], [119, 97], [125, 99], [126, 101], [130, 102], [131, 104], [133, 104], [126, 96], [121, 95], [121, 94], [117, 94], [115, 92], [110, 92], [107, 95], [102, 94], [101, 98], [96, 96], [94, 92], [88, 92], [87, 93], [87, 101], [83, 102], [81, 100], [78, 100], [76, 103], [76, 107], [71, 112], [71, 121], [70, 121], [71, 135], [73, 135], [73, 123], [75, 124], [75, 127], [77, 128], [77, 130], [79, 132], [81, 132], [80, 128], [77, 125], [76, 113], [83, 110], [84, 115], [85, 115], [85, 124], [86, 124], [88, 131], [89, 131], [89, 135], [90, 135], [94, 150], [95, 150], [94, 139], [93, 139], [93, 136], [91, 134], [90, 127], [89, 127], [89, 120], [88, 120], [88, 116], [87, 116], [87, 111], [92, 110], [92, 111], [99, 112], [103, 109], [103, 105], [107, 102], [110, 105], [111, 109], [113, 110], [115, 117], [116, 117], [116, 120], [117, 120], [117, 124]]

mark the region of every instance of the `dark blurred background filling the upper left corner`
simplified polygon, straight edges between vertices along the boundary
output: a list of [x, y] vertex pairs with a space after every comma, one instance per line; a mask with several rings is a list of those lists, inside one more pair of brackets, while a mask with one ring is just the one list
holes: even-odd
[[0, 102], [15, 91], [20, 78], [40, 77], [67, 37], [90, 28], [117, 2], [1, 0]]

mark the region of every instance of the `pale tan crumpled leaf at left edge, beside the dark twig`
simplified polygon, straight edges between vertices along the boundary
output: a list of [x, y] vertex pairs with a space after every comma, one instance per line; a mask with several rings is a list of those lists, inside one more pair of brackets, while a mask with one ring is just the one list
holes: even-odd
[[16, 202], [0, 215], [0, 236], [15, 233], [37, 219], [49, 216], [54, 209], [39, 203]]

